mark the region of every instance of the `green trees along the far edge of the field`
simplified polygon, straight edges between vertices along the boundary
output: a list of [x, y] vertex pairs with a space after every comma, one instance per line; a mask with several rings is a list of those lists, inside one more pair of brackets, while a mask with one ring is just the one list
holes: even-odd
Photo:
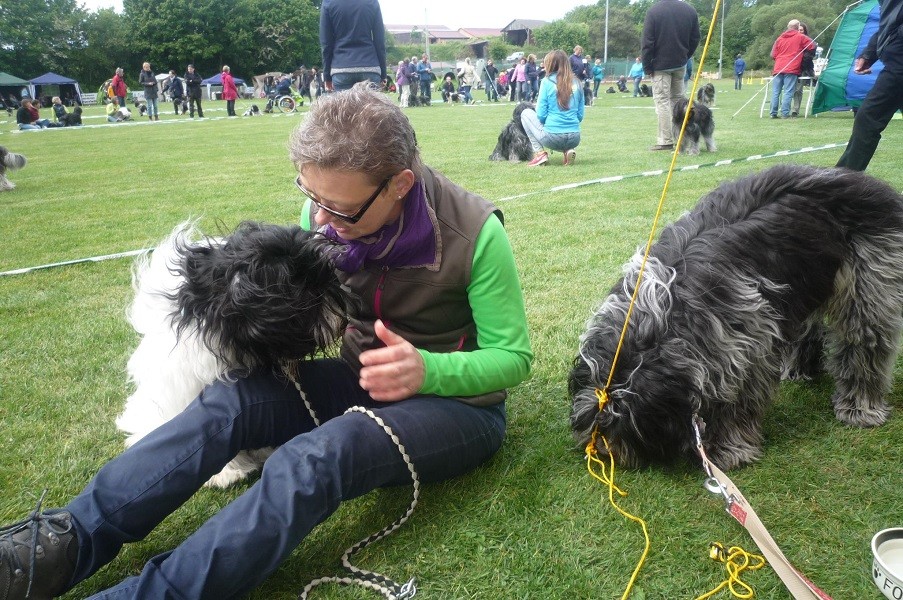
[[[639, 54], [643, 20], [654, 0], [609, 0], [608, 56]], [[724, 15], [722, 56], [731, 72], [733, 58], [743, 53], [750, 69], [770, 69], [771, 46], [787, 21], [800, 19], [819, 45], [833, 39], [838, 15], [848, 0], [687, 0], [699, 13], [703, 40], [713, 18]], [[88, 12], [77, 0], [0, 0], [0, 71], [29, 79], [54, 71], [100, 85], [123, 67], [129, 82], [137, 81], [144, 61], [154, 71], [183, 73], [192, 63], [204, 76], [228, 64], [243, 77], [266, 71], [293, 71], [320, 63], [320, 0], [123, 0], [122, 13], [111, 9]], [[561, 20], [534, 32], [537, 49], [583, 46], [601, 57], [605, 50], [605, 0], [570, 11]], [[821, 34], [821, 35], [819, 35]], [[391, 36], [387, 58], [395, 64], [410, 50], [395, 46]], [[721, 23], [709, 48], [706, 70], [717, 70]], [[448, 54], [442, 45], [431, 53]], [[511, 46], [490, 40], [489, 52], [501, 60]], [[457, 45], [454, 58], [471, 55]], [[702, 48], [697, 51], [697, 59]], [[498, 56], [497, 56], [498, 55]]]

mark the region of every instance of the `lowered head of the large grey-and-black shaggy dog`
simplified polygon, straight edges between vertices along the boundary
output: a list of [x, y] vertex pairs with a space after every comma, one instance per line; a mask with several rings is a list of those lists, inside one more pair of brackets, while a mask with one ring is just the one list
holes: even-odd
[[591, 317], [568, 379], [571, 429], [577, 443], [586, 447], [596, 432], [596, 451], [605, 455], [607, 442], [614, 459], [631, 468], [694, 456], [692, 370], [685, 359], [675, 360], [687, 355], [684, 348], [674, 347], [680, 341], [664, 335], [673, 275], [655, 259], [646, 265], [644, 293], [637, 297], [600, 410], [599, 394], [615, 358], [638, 265], [634, 257], [625, 277]]

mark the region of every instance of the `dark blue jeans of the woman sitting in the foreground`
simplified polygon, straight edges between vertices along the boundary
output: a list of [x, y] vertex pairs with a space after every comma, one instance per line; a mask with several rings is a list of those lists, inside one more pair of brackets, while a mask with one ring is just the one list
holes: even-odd
[[180, 415], [107, 463], [66, 508], [79, 555], [73, 585], [140, 540], [239, 450], [279, 446], [260, 479], [141, 574], [92, 599], [240, 597], [276, 570], [343, 500], [406, 485], [396, 445], [362, 413], [392, 428], [423, 482], [455, 477], [489, 459], [505, 435], [505, 407], [415, 397], [374, 402], [342, 361], [304, 363], [294, 385], [270, 370], [207, 387]]

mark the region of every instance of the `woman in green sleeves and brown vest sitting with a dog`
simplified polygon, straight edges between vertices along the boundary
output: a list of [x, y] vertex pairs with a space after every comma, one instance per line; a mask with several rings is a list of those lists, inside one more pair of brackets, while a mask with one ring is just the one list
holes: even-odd
[[533, 358], [501, 212], [424, 165], [407, 117], [367, 84], [314, 103], [289, 152], [301, 223], [335, 242], [337, 275], [361, 300], [341, 358], [300, 361], [291, 379], [262, 367], [218, 380], [64, 509], [0, 527], [0, 600], [64, 593], [244, 448], [279, 446], [174, 550], [91, 598], [244, 597], [341, 502], [410, 484], [406, 460], [442, 481], [501, 447], [505, 388]]

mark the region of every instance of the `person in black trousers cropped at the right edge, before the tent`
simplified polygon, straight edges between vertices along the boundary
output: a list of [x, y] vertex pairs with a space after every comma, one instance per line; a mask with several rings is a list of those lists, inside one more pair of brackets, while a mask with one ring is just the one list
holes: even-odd
[[894, 113], [903, 110], [903, 0], [878, 0], [878, 4], [878, 31], [856, 59], [853, 71], [861, 75], [871, 73], [871, 66], [878, 59], [884, 63], [884, 70], [856, 111], [847, 149], [837, 161], [838, 167], [854, 171], [865, 171], [878, 149], [881, 132]]

